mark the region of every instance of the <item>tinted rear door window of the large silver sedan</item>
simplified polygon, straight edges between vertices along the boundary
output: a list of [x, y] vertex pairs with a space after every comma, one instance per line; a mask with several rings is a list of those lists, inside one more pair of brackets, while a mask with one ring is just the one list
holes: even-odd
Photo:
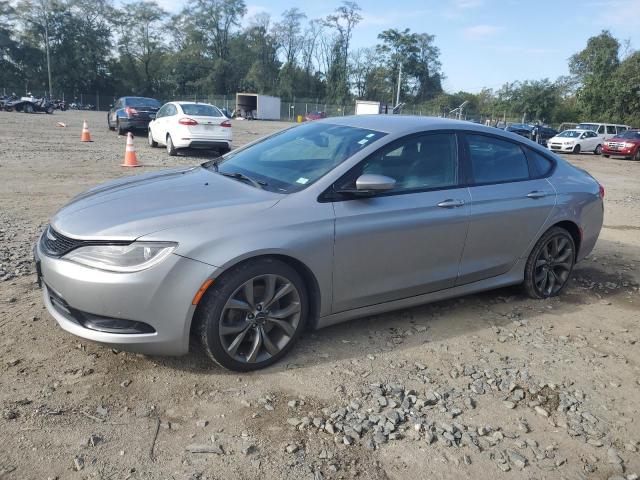
[[529, 178], [529, 166], [515, 143], [484, 135], [467, 135], [475, 183], [497, 183]]

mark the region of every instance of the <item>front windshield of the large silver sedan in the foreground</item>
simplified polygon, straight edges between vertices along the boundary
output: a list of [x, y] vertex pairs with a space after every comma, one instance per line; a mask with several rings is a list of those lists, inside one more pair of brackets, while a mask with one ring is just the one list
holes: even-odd
[[[302, 190], [385, 134], [363, 128], [308, 123], [271, 135], [228, 153], [217, 163], [220, 173], [242, 174], [266, 190]], [[203, 164], [216, 168], [215, 162]]]

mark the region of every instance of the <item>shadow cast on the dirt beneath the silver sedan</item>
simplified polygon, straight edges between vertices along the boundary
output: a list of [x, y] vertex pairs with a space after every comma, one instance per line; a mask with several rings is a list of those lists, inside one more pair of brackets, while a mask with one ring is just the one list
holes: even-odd
[[[610, 253], [620, 249], [618, 242], [605, 240], [601, 240], [598, 246], [599, 256], [603, 251]], [[638, 253], [640, 257], [640, 251]], [[613, 265], [603, 266], [600, 260], [585, 260], [578, 264], [567, 289], [552, 299], [533, 300], [523, 293], [520, 286], [512, 286], [308, 331], [280, 362], [249, 375], [332, 364], [345, 359], [366, 361], [368, 355], [400, 352], [423, 344], [439, 345], [457, 336], [473, 335], [477, 330], [500, 329], [520, 320], [531, 323], [542, 315], [587, 310], [590, 303], [635, 294], [639, 283], [631, 274], [616, 270]], [[628, 258], [620, 261], [628, 263]], [[192, 339], [188, 355], [154, 357], [154, 361], [191, 373], [238, 375], [237, 372], [215, 367], [196, 339]]]

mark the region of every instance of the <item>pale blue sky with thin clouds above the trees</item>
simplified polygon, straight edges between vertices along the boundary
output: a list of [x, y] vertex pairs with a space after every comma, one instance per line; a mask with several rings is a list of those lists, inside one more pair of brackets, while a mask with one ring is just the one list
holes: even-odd
[[[161, 0], [177, 11], [180, 2]], [[245, 21], [257, 13], [274, 19], [291, 7], [324, 17], [339, 0], [246, 0]], [[640, 0], [359, 0], [362, 22], [353, 48], [370, 47], [388, 28], [435, 35], [444, 89], [478, 92], [505, 82], [567, 75], [569, 57], [607, 29], [640, 48]]]

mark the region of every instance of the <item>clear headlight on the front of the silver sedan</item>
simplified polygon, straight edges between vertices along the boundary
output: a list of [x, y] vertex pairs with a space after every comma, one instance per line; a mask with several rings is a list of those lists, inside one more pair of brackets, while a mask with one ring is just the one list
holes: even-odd
[[177, 243], [133, 242], [131, 245], [91, 245], [67, 253], [63, 258], [110, 272], [139, 272], [153, 267], [173, 252]]

